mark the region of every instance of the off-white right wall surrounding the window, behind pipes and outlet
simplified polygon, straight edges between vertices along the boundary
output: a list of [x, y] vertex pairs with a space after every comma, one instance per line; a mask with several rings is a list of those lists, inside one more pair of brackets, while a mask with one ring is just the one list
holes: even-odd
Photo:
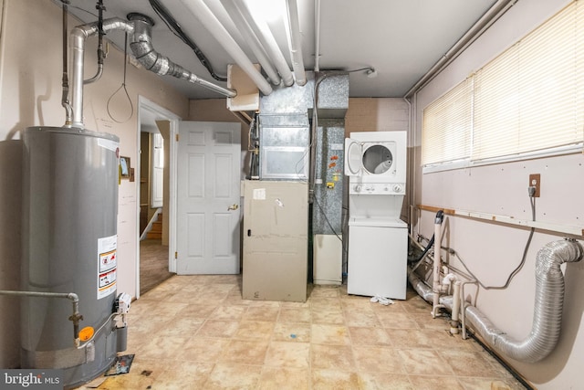
[[[433, 174], [422, 174], [420, 168], [423, 108], [565, 5], [568, 5], [567, 0], [517, 2], [473, 46], [417, 94], [414, 100], [414, 141], [411, 145], [414, 154], [411, 161], [415, 162], [411, 176], [415, 183], [413, 204], [530, 220], [528, 176], [541, 174], [537, 221], [584, 227], [584, 202], [581, 200], [584, 191], [584, 154], [498, 163]], [[432, 236], [433, 213], [422, 212], [418, 227], [425, 237]], [[456, 216], [447, 217], [444, 227], [443, 245], [457, 250], [469, 268], [487, 285], [505, 284], [507, 276], [521, 260], [529, 235], [526, 228]], [[562, 237], [560, 233], [537, 230], [527, 253], [527, 263], [509, 288], [481, 290], [478, 295], [477, 307], [485, 312], [495, 326], [519, 340], [527, 337], [531, 330], [537, 250], [547, 242]], [[455, 258], [451, 260], [459, 264]], [[582, 388], [584, 283], [581, 280], [584, 279], [584, 262], [568, 264], [563, 269], [566, 295], [557, 349], [537, 364], [509, 361], [541, 390]]]

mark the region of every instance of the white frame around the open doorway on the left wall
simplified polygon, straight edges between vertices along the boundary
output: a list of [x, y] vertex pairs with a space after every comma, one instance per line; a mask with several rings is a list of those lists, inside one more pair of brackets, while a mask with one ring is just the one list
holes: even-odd
[[[159, 106], [155, 102], [138, 95], [138, 132], [136, 135], [136, 151], [137, 154], [141, 150], [140, 133], [141, 133], [141, 122], [142, 122], [142, 112], [150, 111], [156, 114], [159, 119], [163, 121], [170, 121], [171, 133], [170, 139], [171, 144], [169, 145], [169, 214], [168, 216], [168, 227], [169, 227], [169, 242], [168, 242], [168, 270], [169, 272], [176, 272], [176, 259], [174, 258], [174, 253], [176, 252], [176, 234], [174, 232], [176, 228], [176, 155], [177, 155], [177, 142], [176, 134], [179, 130], [179, 121], [182, 120], [181, 117], [176, 115], [172, 111], [168, 111], [163, 107]], [[141, 166], [140, 166], [140, 156], [136, 159], [136, 173], [135, 177], [140, 177]], [[136, 185], [136, 299], [140, 298], [140, 185]], [[167, 216], [165, 216], [167, 217]]]

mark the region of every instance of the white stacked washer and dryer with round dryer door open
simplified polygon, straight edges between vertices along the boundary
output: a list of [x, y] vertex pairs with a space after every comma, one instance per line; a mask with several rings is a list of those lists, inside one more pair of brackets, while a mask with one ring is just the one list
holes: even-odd
[[408, 228], [401, 221], [406, 184], [406, 132], [351, 132], [347, 292], [405, 299]]

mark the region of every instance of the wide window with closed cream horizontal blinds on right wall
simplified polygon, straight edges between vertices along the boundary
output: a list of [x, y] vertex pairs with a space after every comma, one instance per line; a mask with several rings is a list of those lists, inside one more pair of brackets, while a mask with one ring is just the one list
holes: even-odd
[[584, 5], [579, 3], [568, 5], [423, 111], [424, 167], [581, 148]]

